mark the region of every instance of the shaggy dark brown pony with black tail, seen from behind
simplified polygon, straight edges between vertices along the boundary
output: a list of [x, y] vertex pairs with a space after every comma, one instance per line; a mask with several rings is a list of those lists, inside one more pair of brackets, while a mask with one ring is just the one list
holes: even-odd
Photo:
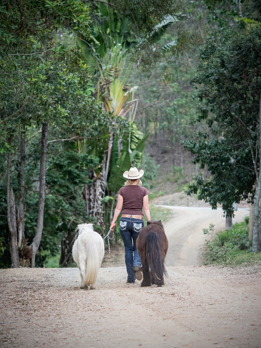
[[143, 280], [141, 286], [164, 285], [165, 257], [168, 239], [161, 221], [148, 221], [136, 240], [137, 251], [141, 258]]

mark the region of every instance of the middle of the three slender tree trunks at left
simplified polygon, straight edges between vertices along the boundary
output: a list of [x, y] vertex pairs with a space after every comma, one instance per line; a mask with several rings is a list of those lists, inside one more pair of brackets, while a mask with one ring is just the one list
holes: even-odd
[[24, 194], [25, 194], [25, 131], [21, 134], [21, 159], [19, 168], [19, 197], [18, 197], [18, 212], [17, 212], [17, 231], [18, 231], [18, 246], [21, 247], [24, 235]]

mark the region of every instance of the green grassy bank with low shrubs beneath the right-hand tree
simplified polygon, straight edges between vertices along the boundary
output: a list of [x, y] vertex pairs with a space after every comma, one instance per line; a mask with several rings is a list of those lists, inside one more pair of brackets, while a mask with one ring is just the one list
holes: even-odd
[[223, 266], [248, 266], [261, 262], [261, 253], [251, 252], [251, 241], [248, 240], [248, 221], [235, 223], [232, 229], [214, 231], [210, 224], [203, 232], [206, 239], [206, 252], [203, 255], [205, 264], [215, 263]]

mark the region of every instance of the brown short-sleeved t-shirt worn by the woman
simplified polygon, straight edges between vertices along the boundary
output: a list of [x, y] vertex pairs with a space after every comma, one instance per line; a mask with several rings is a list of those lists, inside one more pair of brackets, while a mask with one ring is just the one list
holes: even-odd
[[145, 187], [128, 185], [119, 189], [118, 193], [123, 198], [123, 209], [121, 214], [144, 216], [142, 212], [143, 197], [149, 194]]

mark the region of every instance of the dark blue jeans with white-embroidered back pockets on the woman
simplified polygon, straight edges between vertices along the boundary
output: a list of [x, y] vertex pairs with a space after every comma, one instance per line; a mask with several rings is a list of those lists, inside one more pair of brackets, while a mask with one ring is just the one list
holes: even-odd
[[141, 258], [136, 248], [136, 239], [140, 230], [144, 227], [144, 221], [131, 217], [120, 218], [120, 235], [125, 246], [125, 264], [127, 268], [127, 283], [135, 282], [134, 266], [141, 268]]

